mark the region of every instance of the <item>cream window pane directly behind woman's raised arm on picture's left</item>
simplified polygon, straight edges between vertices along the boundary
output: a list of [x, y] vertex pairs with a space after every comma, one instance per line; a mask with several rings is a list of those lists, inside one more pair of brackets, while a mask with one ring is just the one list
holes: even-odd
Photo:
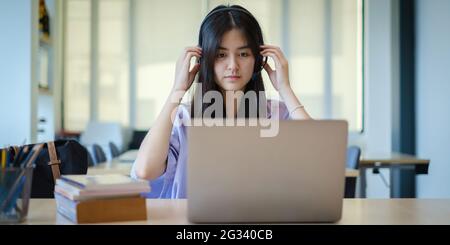
[[[175, 78], [175, 64], [187, 46], [197, 45], [202, 1], [137, 0], [136, 127], [149, 128]], [[174, 11], [174, 6], [182, 11]]]

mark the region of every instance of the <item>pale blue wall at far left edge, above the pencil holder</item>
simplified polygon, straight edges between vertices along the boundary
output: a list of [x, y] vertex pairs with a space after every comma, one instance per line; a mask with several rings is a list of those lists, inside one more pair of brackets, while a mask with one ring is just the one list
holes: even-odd
[[36, 77], [32, 68], [38, 31], [36, 2], [0, 1], [0, 147], [36, 138], [37, 87], [32, 86], [36, 84], [32, 82]]

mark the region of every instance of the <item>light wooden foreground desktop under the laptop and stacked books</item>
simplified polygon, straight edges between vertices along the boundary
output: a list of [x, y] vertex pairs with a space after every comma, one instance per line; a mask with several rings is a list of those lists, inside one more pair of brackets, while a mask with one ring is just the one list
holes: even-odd
[[[147, 221], [111, 224], [189, 224], [187, 200], [147, 199]], [[344, 199], [343, 225], [450, 225], [450, 199]], [[57, 214], [54, 199], [31, 199], [23, 224], [72, 224]]]

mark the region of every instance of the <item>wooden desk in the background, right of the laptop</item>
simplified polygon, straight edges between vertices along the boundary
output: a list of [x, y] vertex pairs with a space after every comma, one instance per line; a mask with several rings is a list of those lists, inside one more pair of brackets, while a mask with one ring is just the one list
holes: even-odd
[[413, 155], [391, 153], [366, 153], [360, 159], [360, 197], [366, 197], [366, 169], [390, 169], [390, 197], [415, 198], [416, 174], [427, 174], [429, 159]]

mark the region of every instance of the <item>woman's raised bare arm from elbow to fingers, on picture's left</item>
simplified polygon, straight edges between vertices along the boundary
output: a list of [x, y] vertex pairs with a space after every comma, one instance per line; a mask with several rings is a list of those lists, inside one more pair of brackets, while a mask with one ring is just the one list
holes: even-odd
[[184, 93], [192, 85], [200, 68], [200, 65], [196, 64], [190, 70], [192, 57], [201, 57], [199, 47], [186, 48], [177, 61], [174, 86], [151, 130], [139, 147], [135, 162], [135, 172], [138, 178], [152, 180], [161, 176], [166, 169], [173, 126], [171, 116], [176, 113], [177, 106]]

